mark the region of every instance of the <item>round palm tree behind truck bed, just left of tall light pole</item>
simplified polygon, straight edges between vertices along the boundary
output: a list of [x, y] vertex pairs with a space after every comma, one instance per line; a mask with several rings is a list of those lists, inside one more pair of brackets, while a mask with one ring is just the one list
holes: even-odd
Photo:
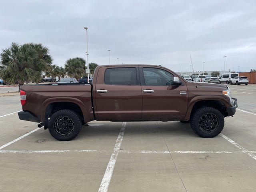
[[85, 74], [85, 64], [86, 61], [81, 57], [68, 59], [65, 64], [65, 70], [68, 73], [68, 76], [78, 80]]

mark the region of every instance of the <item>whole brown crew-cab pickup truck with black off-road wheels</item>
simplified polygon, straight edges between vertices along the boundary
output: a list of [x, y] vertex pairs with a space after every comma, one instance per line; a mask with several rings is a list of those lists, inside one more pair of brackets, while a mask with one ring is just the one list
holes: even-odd
[[226, 85], [188, 82], [153, 65], [98, 66], [91, 84], [21, 86], [21, 120], [39, 122], [57, 140], [72, 140], [82, 124], [97, 121], [190, 122], [201, 137], [214, 137], [236, 112]]

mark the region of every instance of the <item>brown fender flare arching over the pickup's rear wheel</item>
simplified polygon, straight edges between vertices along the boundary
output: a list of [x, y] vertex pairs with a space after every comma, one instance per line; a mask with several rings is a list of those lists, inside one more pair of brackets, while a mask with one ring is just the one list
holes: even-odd
[[[86, 120], [89, 121], [89, 115], [88, 115], [88, 111], [85, 108], [84, 104], [82, 101], [80, 101], [77, 98], [70, 98], [70, 97], [54, 97], [54, 98], [48, 98], [46, 99], [42, 106], [41, 106], [41, 111], [40, 111], [40, 120], [41, 122], [44, 122], [44, 117], [45, 117], [45, 112], [47, 107], [51, 104], [51, 103], [56, 103], [56, 102], [70, 102], [70, 103], [74, 103], [77, 104], [80, 109], [82, 110], [83, 113], [83, 117], [84, 117], [84, 121], [86, 122]], [[87, 122], [88, 122], [87, 121]]]

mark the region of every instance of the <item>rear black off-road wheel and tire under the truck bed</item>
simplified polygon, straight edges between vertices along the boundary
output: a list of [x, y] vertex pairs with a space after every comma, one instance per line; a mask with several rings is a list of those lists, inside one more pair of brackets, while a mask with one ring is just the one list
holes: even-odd
[[82, 128], [78, 114], [69, 109], [55, 112], [48, 123], [50, 134], [59, 141], [74, 139]]

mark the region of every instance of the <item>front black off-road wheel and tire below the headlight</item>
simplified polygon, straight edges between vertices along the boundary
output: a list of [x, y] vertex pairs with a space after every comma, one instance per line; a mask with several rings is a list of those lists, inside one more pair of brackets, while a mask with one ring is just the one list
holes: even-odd
[[190, 126], [200, 137], [212, 138], [222, 132], [224, 117], [222, 113], [215, 108], [202, 107], [192, 114]]

